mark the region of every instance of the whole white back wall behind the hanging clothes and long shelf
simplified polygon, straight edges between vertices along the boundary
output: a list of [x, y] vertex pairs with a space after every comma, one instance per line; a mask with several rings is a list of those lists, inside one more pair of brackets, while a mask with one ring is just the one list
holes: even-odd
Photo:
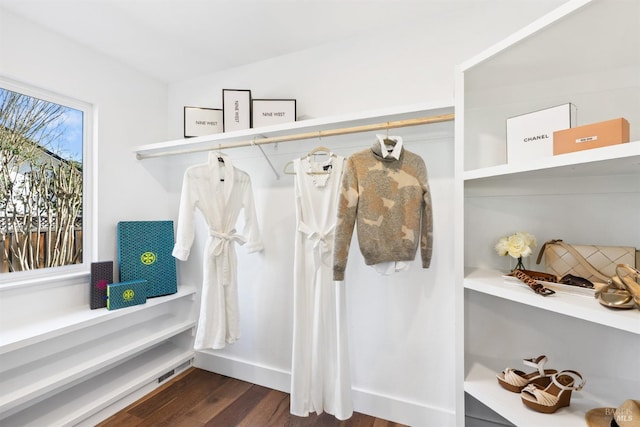
[[[375, 110], [420, 102], [452, 104], [456, 64], [526, 25], [555, 2], [485, 2], [455, 16], [418, 16], [376, 34], [321, 46], [169, 86], [169, 134], [182, 135], [182, 107], [221, 108], [223, 88], [251, 89], [256, 98], [295, 98], [300, 118]], [[486, 7], [491, 6], [491, 7]], [[347, 266], [348, 335], [356, 410], [410, 425], [453, 425], [455, 410], [452, 265], [453, 131], [400, 129], [407, 148], [427, 164], [433, 192], [435, 248], [429, 270], [392, 277], [364, 266], [357, 244]], [[442, 132], [444, 130], [444, 132]], [[339, 154], [369, 146], [373, 135], [267, 147], [281, 171], [314, 145]], [[428, 139], [429, 141], [425, 142]], [[261, 255], [239, 249], [242, 339], [224, 350], [200, 353], [208, 369], [288, 389], [291, 364], [292, 259], [295, 233], [291, 177], [276, 180], [257, 149], [227, 154], [253, 179], [265, 237]], [[201, 156], [178, 156], [176, 178]], [[179, 183], [167, 180], [171, 197]], [[201, 226], [201, 241], [206, 236]], [[201, 243], [202, 244], [202, 243]], [[183, 280], [198, 283], [194, 260]], [[188, 270], [188, 272], [187, 272]]]

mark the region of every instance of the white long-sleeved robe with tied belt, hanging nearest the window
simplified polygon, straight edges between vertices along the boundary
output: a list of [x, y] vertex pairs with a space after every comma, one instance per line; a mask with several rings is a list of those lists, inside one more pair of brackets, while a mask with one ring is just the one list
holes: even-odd
[[[221, 157], [224, 162], [218, 161]], [[194, 240], [194, 214], [209, 227], [204, 251], [202, 300], [195, 349], [219, 349], [240, 337], [235, 245], [249, 252], [262, 249], [249, 175], [233, 167], [229, 157], [209, 154], [208, 163], [184, 174], [173, 256], [185, 261]], [[244, 209], [244, 229], [235, 225]]]

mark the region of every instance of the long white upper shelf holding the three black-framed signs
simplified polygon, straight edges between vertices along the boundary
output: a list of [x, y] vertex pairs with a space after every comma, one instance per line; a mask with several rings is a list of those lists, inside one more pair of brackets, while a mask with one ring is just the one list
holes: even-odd
[[356, 114], [324, 117], [319, 119], [301, 120], [281, 125], [251, 128], [235, 132], [219, 133], [199, 136], [195, 138], [177, 139], [155, 144], [147, 144], [134, 148], [134, 153], [141, 158], [163, 155], [180, 154], [182, 150], [211, 150], [219, 145], [233, 144], [252, 138], [266, 136], [292, 135], [297, 133], [317, 132], [320, 130], [339, 127], [352, 127], [365, 124], [384, 123], [395, 120], [418, 118], [426, 115], [449, 114], [453, 112], [453, 100], [444, 102], [430, 102], [388, 108], [382, 110], [365, 111]]

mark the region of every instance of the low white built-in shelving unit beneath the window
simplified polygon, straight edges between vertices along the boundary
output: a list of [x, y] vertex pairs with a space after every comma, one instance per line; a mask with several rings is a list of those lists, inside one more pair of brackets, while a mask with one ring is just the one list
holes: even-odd
[[113, 311], [86, 304], [3, 328], [0, 424], [82, 424], [189, 366], [195, 292]]

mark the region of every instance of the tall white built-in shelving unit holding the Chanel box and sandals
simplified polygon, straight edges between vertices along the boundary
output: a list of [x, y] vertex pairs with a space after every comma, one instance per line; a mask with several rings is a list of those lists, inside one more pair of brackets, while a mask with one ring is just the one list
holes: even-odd
[[[577, 105], [578, 125], [625, 117], [631, 142], [507, 163], [506, 119], [566, 102]], [[640, 398], [640, 311], [536, 295], [503, 278], [508, 259], [493, 249], [519, 230], [538, 247], [562, 238], [640, 248], [640, 3], [564, 4], [462, 64], [455, 105], [458, 425], [465, 395], [522, 427], [583, 426], [591, 408]], [[530, 370], [522, 359], [540, 354], [587, 381], [555, 414], [526, 408], [495, 378]], [[466, 415], [467, 425], [483, 417]]]

